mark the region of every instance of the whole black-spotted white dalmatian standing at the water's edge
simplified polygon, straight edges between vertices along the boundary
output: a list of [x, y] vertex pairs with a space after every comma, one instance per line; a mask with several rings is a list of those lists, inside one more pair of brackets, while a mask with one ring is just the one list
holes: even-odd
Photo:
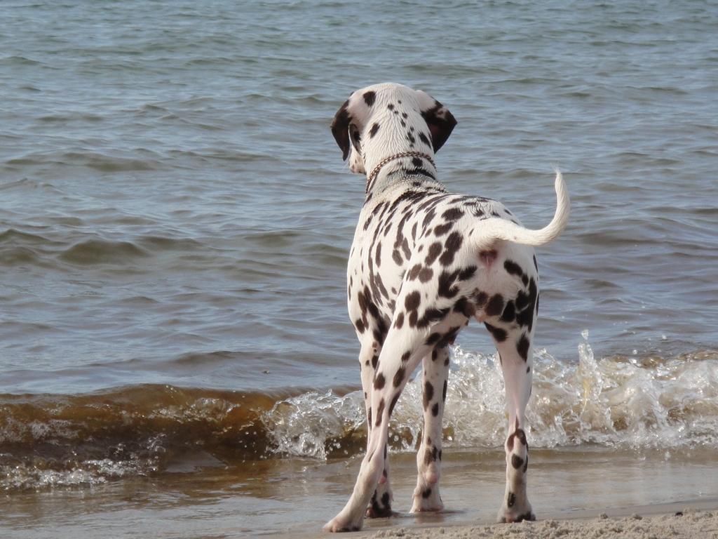
[[325, 530], [359, 530], [365, 517], [392, 514], [388, 423], [419, 362], [424, 429], [411, 512], [443, 509], [447, 347], [472, 318], [493, 338], [505, 380], [506, 490], [498, 518], [535, 519], [526, 495], [524, 430], [538, 312], [532, 247], [559, 236], [569, 197], [556, 170], [554, 218], [544, 229], [530, 230], [497, 201], [449, 193], [437, 181], [434, 153], [456, 123], [427, 93], [391, 83], [355, 91], [332, 122], [343, 159], [349, 157], [350, 169], [367, 178], [347, 279], [369, 433], [353, 493]]

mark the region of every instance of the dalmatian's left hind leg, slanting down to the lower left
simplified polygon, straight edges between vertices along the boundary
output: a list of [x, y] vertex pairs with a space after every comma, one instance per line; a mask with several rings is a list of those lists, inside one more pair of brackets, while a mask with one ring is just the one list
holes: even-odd
[[[398, 304], [403, 304], [403, 301]], [[426, 351], [426, 346], [422, 346], [424, 333], [407, 326], [404, 324], [401, 328], [396, 328], [396, 323], [392, 323], [386, 336], [372, 384], [372, 425], [367, 452], [347, 505], [336, 517], [327, 522], [325, 530], [332, 532], [360, 530], [366, 507], [383, 476], [388, 449], [389, 418], [401, 391], [409, 380], [409, 375], [414, 372], [416, 364]]]

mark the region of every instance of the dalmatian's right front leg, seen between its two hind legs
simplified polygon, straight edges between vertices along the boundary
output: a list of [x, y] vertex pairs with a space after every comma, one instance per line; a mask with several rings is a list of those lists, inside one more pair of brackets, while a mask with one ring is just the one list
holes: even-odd
[[449, 378], [449, 351], [446, 346], [437, 347], [424, 356], [424, 431], [421, 446], [416, 453], [419, 475], [414, 489], [411, 512], [441, 511], [444, 509], [439, 496], [439, 477], [442, 461], [442, 417], [447, 398]]

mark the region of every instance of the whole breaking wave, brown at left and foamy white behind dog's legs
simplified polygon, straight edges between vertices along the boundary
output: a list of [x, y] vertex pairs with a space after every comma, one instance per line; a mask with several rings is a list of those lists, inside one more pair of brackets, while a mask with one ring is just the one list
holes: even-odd
[[[584, 331], [577, 361], [535, 353], [533, 447], [635, 449], [718, 441], [718, 351], [595, 359]], [[394, 450], [420, 436], [421, 378], [391, 420]], [[493, 355], [452, 349], [445, 445], [503, 444], [503, 378]], [[89, 395], [0, 395], [0, 490], [96, 484], [150, 475], [205, 453], [215, 461], [343, 458], [365, 446], [355, 388], [233, 392], [144, 385]]]

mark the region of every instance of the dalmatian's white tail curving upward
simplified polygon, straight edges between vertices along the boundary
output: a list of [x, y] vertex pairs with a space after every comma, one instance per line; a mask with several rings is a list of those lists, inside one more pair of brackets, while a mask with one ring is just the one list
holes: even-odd
[[488, 218], [482, 221], [480, 229], [477, 230], [479, 242], [483, 244], [482, 247], [488, 248], [490, 244], [493, 244], [493, 241], [498, 239], [537, 247], [553, 241], [561, 234], [569, 220], [571, 201], [569, 201], [569, 193], [561, 171], [557, 168], [554, 168], [554, 170], [556, 170], [556, 183], [554, 184], [554, 188], [556, 188], [556, 213], [554, 213], [554, 218], [551, 219], [551, 222], [543, 229], [531, 230], [506, 219]]

